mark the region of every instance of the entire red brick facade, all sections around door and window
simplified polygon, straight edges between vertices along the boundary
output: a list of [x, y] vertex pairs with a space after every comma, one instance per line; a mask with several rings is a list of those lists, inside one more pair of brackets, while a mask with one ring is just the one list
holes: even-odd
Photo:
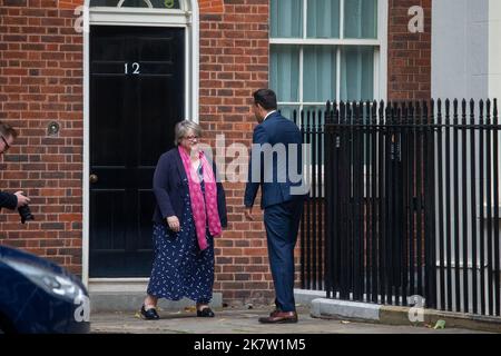
[[[81, 274], [82, 0], [0, 0], [0, 120], [20, 130], [0, 162], [1, 189], [26, 190], [37, 220], [0, 215], [0, 244], [30, 250]], [[212, 141], [249, 144], [252, 92], [268, 85], [268, 0], [206, 0], [200, 8], [199, 117]], [[431, 0], [390, 0], [389, 99], [430, 97]], [[422, 2], [425, 33], [407, 32], [406, 10]], [[51, 137], [51, 121], [61, 126]], [[229, 228], [216, 241], [215, 291], [228, 304], [268, 303], [273, 281], [259, 220], [243, 217], [243, 184], [225, 184]], [[258, 204], [258, 202], [257, 202]], [[259, 209], [256, 206], [257, 216]]]

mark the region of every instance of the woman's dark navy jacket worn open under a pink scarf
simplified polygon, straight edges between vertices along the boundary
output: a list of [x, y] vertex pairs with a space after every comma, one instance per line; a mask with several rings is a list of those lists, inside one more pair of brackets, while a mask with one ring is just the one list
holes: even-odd
[[[217, 177], [216, 165], [213, 162], [213, 170]], [[166, 218], [177, 216], [183, 219], [185, 208], [184, 198], [189, 194], [188, 177], [185, 167], [176, 148], [165, 152], [158, 160], [154, 175], [154, 192], [157, 200], [153, 221], [167, 224]], [[217, 210], [222, 227], [227, 227], [226, 197], [223, 185], [217, 182]]]

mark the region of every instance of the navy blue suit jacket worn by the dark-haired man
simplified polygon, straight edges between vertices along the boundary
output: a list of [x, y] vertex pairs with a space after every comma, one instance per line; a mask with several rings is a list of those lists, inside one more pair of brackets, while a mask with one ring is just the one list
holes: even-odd
[[[301, 186], [303, 182], [303, 180], [295, 181], [296, 179], [291, 179], [292, 177], [289, 175], [289, 155], [293, 154], [288, 148], [289, 144], [295, 144], [297, 147], [297, 165], [296, 167], [292, 167], [292, 172], [295, 175], [303, 172], [303, 136], [297, 126], [293, 121], [284, 118], [279, 112], [274, 112], [254, 129], [253, 144], [269, 144], [272, 147], [275, 147], [277, 144], [283, 144], [286, 158], [284, 159], [282, 157], [282, 159], [277, 159], [277, 155], [273, 155], [273, 159], [266, 159], [266, 155], [262, 150], [255, 150], [253, 146], [250, 164], [248, 166], [248, 182], [245, 189], [245, 207], [249, 208], [254, 205], [259, 186], [262, 190], [262, 208], [293, 199], [304, 199], [304, 194], [291, 194], [292, 187]], [[261, 172], [261, 177], [258, 177], [258, 174], [255, 171], [256, 168], [253, 165], [256, 156], [261, 156], [261, 171], [257, 170], [257, 172]], [[255, 179], [253, 179], [253, 171]], [[267, 177], [265, 174], [267, 174]], [[271, 174], [273, 174], [273, 177], [269, 176]]]

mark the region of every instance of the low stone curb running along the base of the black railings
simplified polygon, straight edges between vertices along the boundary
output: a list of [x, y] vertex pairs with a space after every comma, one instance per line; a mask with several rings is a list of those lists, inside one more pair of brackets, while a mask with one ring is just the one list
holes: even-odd
[[421, 327], [426, 325], [434, 326], [436, 322], [444, 320], [445, 329], [464, 328], [501, 333], [501, 318], [499, 317], [421, 309], [420, 317], [423, 322], [413, 323], [410, 320], [410, 316], [416, 316], [416, 310], [411, 307], [382, 306], [369, 303], [317, 298], [312, 300], [311, 316], [314, 318], [347, 319], [363, 323]]

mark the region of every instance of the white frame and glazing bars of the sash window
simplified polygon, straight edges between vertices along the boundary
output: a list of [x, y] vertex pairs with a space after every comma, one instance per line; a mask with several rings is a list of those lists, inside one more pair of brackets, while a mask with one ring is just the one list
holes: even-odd
[[310, 106], [323, 106], [325, 102], [304, 101], [304, 46], [337, 46], [336, 53], [336, 101], [341, 101], [341, 49], [346, 46], [374, 47], [374, 99], [386, 100], [387, 95], [387, 0], [377, 1], [377, 38], [376, 39], [346, 39], [344, 37], [344, 3], [350, 0], [340, 0], [340, 38], [312, 39], [307, 38], [307, 0], [303, 1], [303, 38], [269, 38], [269, 44], [299, 46], [299, 91], [298, 101], [278, 101], [278, 106], [296, 106], [301, 110]]

